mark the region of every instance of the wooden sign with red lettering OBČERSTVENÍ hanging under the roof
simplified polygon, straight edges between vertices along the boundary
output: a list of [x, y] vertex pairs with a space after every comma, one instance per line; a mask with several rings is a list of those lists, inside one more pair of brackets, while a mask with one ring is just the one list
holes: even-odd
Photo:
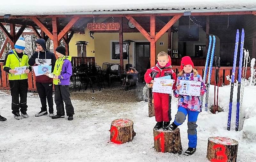
[[87, 28], [89, 31], [108, 31], [119, 30], [119, 23], [88, 23]]

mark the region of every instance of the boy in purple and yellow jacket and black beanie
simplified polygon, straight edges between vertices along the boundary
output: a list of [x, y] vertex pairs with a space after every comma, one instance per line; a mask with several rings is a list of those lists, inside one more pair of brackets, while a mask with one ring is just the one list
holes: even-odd
[[74, 107], [70, 100], [69, 79], [72, 75], [71, 56], [66, 56], [66, 49], [63, 46], [56, 48], [56, 55], [59, 57], [55, 63], [53, 70], [53, 84], [55, 85], [55, 104], [57, 115], [52, 119], [64, 118], [64, 104], [66, 105], [66, 113], [68, 120], [73, 120]]

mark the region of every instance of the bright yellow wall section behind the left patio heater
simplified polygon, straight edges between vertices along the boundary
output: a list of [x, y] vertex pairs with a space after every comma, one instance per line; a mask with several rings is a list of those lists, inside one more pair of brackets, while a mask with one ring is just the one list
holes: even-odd
[[69, 55], [77, 56], [77, 41], [87, 41], [89, 44], [86, 46], [86, 56], [94, 57], [94, 40], [90, 37], [89, 31], [85, 29], [85, 34], [74, 34], [69, 42]]

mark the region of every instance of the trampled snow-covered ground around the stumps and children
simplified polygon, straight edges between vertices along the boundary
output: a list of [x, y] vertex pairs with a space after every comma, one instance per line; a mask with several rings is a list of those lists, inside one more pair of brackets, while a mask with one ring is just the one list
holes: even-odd
[[[210, 87], [210, 103], [213, 103], [213, 86]], [[236, 89], [233, 100], [236, 101]], [[40, 100], [36, 93], [28, 94], [28, 119], [15, 120], [11, 114], [11, 96], [0, 91], [0, 112], [7, 118], [0, 122], [0, 161], [208, 161], [207, 139], [223, 136], [239, 142], [237, 161], [255, 161], [256, 152], [256, 86], [245, 87], [243, 110], [244, 128], [235, 129], [235, 107], [231, 130], [227, 130], [230, 86], [220, 87], [220, 107], [224, 112], [199, 114], [197, 121], [198, 145], [194, 155], [156, 152], [153, 148], [152, 128], [155, 118], [148, 117], [148, 103], [95, 102], [72, 100], [75, 107], [73, 121], [34, 117], [39, 111]], [[172, 100], [172, 117], [176, 114], [176, 99]], [[234, 102], [235, 103], [235, 102]], [[109, 142], [111, 121], [128, 118], [134, 122], [137, 133], [126, 144]], [[183, 151], [188, 147], [187, 120], [180, 126]]]

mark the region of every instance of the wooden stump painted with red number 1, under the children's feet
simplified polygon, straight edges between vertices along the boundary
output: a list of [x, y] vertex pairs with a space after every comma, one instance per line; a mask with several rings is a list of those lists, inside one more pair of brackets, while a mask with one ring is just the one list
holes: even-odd
[[174, 130], [153, 129], [154, 146], [157, 152], [171, 152], [181, 154], [180, 129]]

